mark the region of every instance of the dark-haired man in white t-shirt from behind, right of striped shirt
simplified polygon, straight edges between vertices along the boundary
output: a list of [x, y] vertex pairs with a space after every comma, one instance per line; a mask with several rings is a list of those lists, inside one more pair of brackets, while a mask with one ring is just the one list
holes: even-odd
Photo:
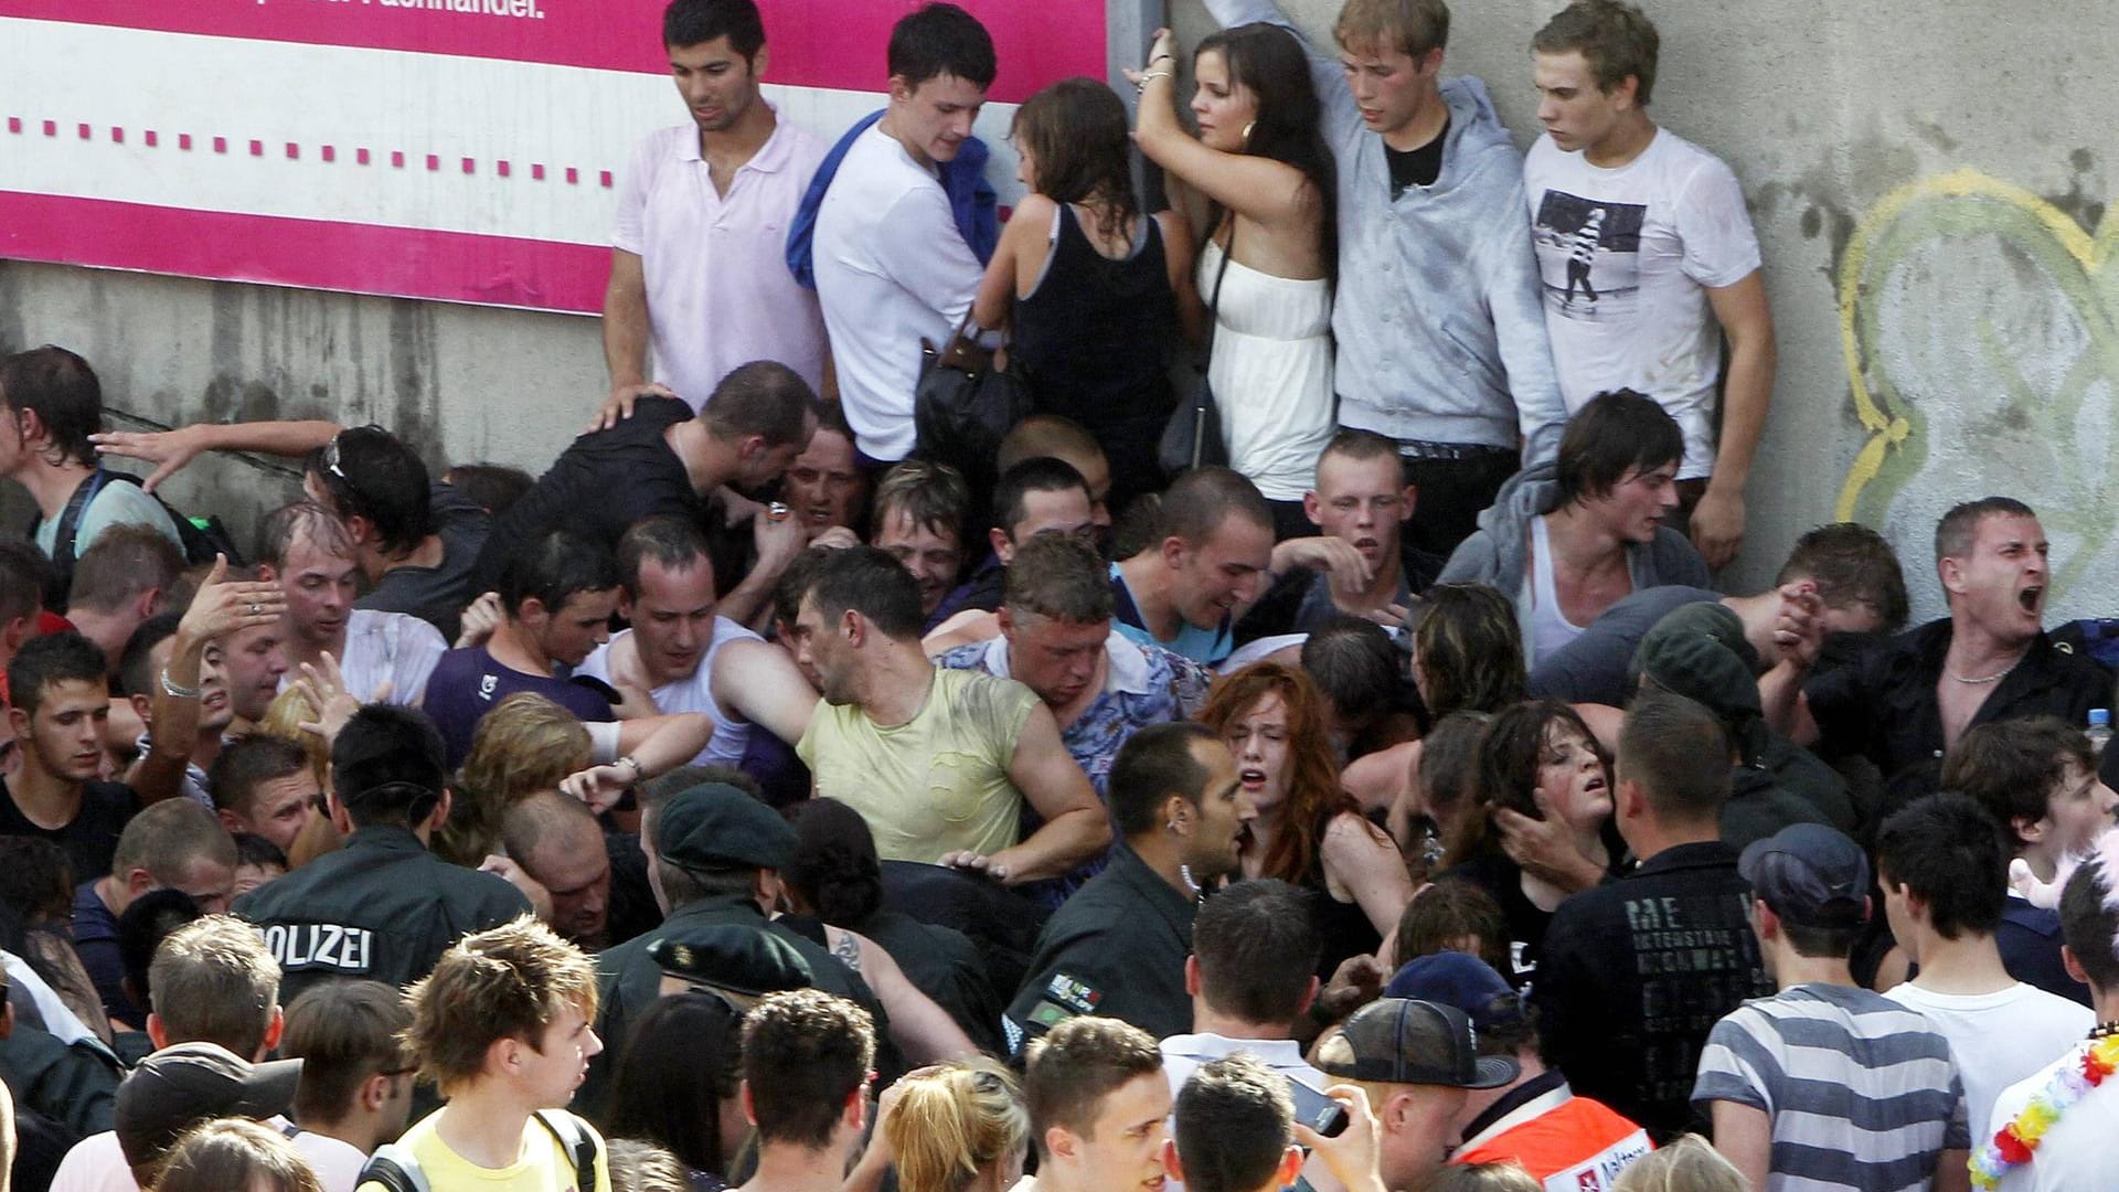
[[[2083, 1037], [2083, 1005], [2009, 976], [1994, 946], [2009, 851], [1977, 802], [1926, 795], [1884, 821], [1877, 876], [1890, 933], [1918, 974], [1884, 997], [1922, 1012], [1945, 1039], [1975, 1128], [1994, 1097]], [[1977, 1135], [1975, 1135], [1977, 1139]]]

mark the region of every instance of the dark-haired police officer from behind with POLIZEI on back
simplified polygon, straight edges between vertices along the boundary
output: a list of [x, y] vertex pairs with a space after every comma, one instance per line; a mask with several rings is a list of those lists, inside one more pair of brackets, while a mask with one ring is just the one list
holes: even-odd
[[415, 708], [369, 704], [331, 744], [331, 821], [345, 846], [235, 899], [280, 961], [280, 1001], [331, 978], [405, 986], [473, 931], [530, 914], [504, 878], [426, 851], [449, 817], [441, 732]]

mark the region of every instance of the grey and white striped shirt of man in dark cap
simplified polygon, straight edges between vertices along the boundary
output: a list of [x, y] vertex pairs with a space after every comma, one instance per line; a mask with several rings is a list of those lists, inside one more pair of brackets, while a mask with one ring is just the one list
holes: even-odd
[[1949, 1044], [1867, 988], [1799, 984], [1746, 1001], [1708, 1035], [1693, 1103], [1774, 1122], [1761, 1192], [1928, 1188], [1937, 1156], [1971, 1143]]

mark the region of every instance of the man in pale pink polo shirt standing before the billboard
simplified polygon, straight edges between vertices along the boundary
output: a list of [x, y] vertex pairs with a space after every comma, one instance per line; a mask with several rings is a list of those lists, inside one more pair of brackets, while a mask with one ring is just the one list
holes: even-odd
[[[608, 426], [636, 397], [693, 409], [748, 361], [824, 384], [824, 316], [788, 274], [784, 244], [824, 144], [759, 95], [765, 25], [752, 0], [672, 0], [670, 74], [691, 123], [640, 142], [610, 244], [604, 291]], [[648, 382], [648, 354], [655, 382]]]

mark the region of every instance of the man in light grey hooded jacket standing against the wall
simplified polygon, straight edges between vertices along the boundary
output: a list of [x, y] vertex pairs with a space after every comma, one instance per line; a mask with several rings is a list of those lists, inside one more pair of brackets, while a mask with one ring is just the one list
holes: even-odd
[[[1293, 30], [1271, 0], [1206, 6]], [[1399, 443], [1420, 488], [1407, 541], [1445, 556], [1566, 422], [1524, 157], [1479, 78], [1441, 78], [1443, 0], [1350, 0], [1335, 36], [1310, 59], [1339, 165], [1339, 422]]]

